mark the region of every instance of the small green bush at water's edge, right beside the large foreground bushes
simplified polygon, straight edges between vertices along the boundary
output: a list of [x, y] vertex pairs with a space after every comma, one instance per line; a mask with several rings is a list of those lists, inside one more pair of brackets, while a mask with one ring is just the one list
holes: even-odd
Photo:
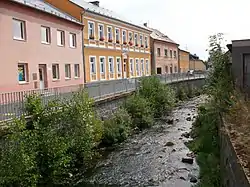
[[104, 121], [103, 144], [113, 145], [128, 138], [132, 119], [125, 109], [119, 109], [111, 119]]

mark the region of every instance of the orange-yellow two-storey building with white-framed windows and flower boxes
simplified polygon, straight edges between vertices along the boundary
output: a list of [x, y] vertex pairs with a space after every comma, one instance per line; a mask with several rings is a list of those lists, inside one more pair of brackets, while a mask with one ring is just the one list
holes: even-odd
[[85, 82], [151, 74], [150, 30], [101, 8], [98, 1], [46, 1], [85, 25]]

